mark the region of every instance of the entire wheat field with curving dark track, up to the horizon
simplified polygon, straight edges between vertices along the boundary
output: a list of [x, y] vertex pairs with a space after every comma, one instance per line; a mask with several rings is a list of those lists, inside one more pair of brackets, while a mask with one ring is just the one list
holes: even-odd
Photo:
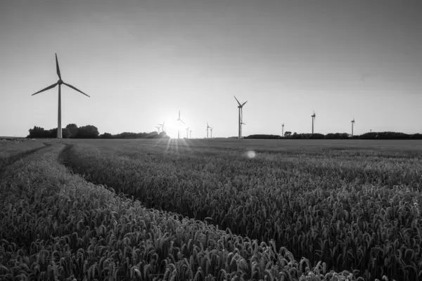
[[0, 146], [0, 280], [422, 276], [422, 141], [23, 143]]

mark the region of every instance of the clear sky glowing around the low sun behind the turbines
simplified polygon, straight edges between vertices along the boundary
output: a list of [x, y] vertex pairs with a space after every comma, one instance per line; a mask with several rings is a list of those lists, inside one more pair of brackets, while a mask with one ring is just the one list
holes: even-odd
[[[0, 136], [422, 133], [420, 0], [2, 0]], [[186, 136], [185, 125], [181, 135]], [[182, 133], [183, 132], [183, 133]]]

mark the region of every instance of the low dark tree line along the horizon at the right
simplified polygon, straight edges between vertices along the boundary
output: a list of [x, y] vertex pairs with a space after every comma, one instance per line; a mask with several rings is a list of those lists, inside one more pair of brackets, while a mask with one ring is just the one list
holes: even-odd
[[362, 139], [362, 140], [422, 140], [421, 133], [407, 134], [407, 133], [397, 133], [397, 132], [370, 132], [364, 133], [360, 136], [354, 135], [350, 136], [348, 133], [291, 133], [286, 131], [284, 137], [279, 135], [250, 135], [245, 136], [245, 138], [250, 139]]

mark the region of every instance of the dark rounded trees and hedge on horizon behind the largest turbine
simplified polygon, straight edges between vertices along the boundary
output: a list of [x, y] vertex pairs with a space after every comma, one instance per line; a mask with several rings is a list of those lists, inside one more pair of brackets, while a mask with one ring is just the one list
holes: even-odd
[[[56, 138], [57, 128], [46, 130], [41, 127], [34, 126], [30, 129], [30, 134], [27, 138]], [[111, 133], [98, 132], [98, 128], [93, 125], [78, 127], [76, 124], [68, 124], [62, 129], [63, 138], [169, 138], [165, 132], [157, 133], [117, 133], [112, 135]]]

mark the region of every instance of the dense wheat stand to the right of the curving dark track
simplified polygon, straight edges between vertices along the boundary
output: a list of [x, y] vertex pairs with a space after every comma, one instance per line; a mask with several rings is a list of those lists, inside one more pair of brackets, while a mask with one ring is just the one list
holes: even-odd
[[415, 159], [342, 161], [345, 151], [254, 159], [236, 151], [179, 152], [77, 144], [66, 157], [87, 180], [147, 207], [274, 240], [312, 264], [357, 270], [369, 280], [422, 275], [422, 166]]

